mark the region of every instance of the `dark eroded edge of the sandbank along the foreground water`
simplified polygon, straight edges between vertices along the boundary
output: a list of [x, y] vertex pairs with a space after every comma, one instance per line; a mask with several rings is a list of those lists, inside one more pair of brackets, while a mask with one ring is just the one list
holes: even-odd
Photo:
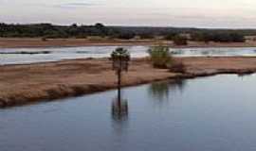
[[[201, 72], [201, 73], [184, 73], [184, 74], [176, 74], [175, 76], [168, 76], [168, 77], [155, 77], [152, 80], [148, 79], [140, 79], [135, 82], [126, 83], [123, 84], [121, 87], [134, 87], [139, 86], [143, 84], [149, 84], [157, 81], [163, 81], [163, 80], [176, 80], [176, 79], [192, 79], [197, 77], [206, 77], [206, 76], [217, 76], [217, 75], [238, 75], [238, 76], [244, 76], [244, 75], [251, 75], [255, 74], [256, 69], [225, 69], [225, 70], [215, 70], [211, 72]], [[0, 109], [8, 109], [12, 107], [18, 107], [18, 106], [24, 106], [24, 105], [31, 105], [31, 104], [37, 104], [40, 102], [50, 102], [54, 100], [60, 100], [70, 97], [78, 97], [86, 94], [93, 94], [96, 92], [106, 92], [117, 89], [117, 85], [109, 85], [109, 86], [101, 86], [101, 85], [87, 85], [87, 87], [82, 86], [75, 86], [75, 87], [69, 87], [65, 88], [68, 89], [68, 91], [59, 91], [59, 90], [48, 90], [50, 93], [47, 97], [44, 95], [39, 97], [30, 97], [26, 100], [4, 100], [0, 99]], [[62, 89], [62, 88], [59, 88]], [[71, 91], [70, 91], [71, 90]], [[14, 96], [13, 96], [14, 97]]]

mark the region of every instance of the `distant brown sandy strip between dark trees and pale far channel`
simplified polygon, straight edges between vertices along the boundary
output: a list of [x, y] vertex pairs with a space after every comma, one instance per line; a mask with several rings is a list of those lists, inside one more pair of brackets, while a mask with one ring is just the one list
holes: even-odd
[[159, 40], [88, 40], [88, 39], [48, 39], [42, 41], [40, 38], [27, 39], [0, 38], [0, 48], [22, 48], [22, 47], [72, 47], [72, 46], [151, 46], [164, 43], [172, 47], [256, 47], [256, 42], [189, 42], [185, 46], [175, 46], [173, 42]]

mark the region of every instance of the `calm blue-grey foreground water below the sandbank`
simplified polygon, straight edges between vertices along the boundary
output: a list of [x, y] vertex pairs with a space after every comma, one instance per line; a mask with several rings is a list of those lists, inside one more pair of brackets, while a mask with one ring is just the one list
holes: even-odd
[[[156, 82], [116, 91], [0, 109], [1, 151], [254, 151], [253, 76]], [[114, 106], [115, 107], [115, 106]]]

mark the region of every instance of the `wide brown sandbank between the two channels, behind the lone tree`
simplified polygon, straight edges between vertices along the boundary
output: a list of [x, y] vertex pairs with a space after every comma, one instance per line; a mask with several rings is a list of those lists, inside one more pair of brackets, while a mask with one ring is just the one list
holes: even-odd
[[[186, 74], [154, 69], [146, 59], [131, 62], [123, 86], [167, 78], [256, 72], [256, 58], [186, 58]], [[117, 78], [108, 59], [74, 59], [0, 66], [0, 106], [17, 106], [114, 89]]]

